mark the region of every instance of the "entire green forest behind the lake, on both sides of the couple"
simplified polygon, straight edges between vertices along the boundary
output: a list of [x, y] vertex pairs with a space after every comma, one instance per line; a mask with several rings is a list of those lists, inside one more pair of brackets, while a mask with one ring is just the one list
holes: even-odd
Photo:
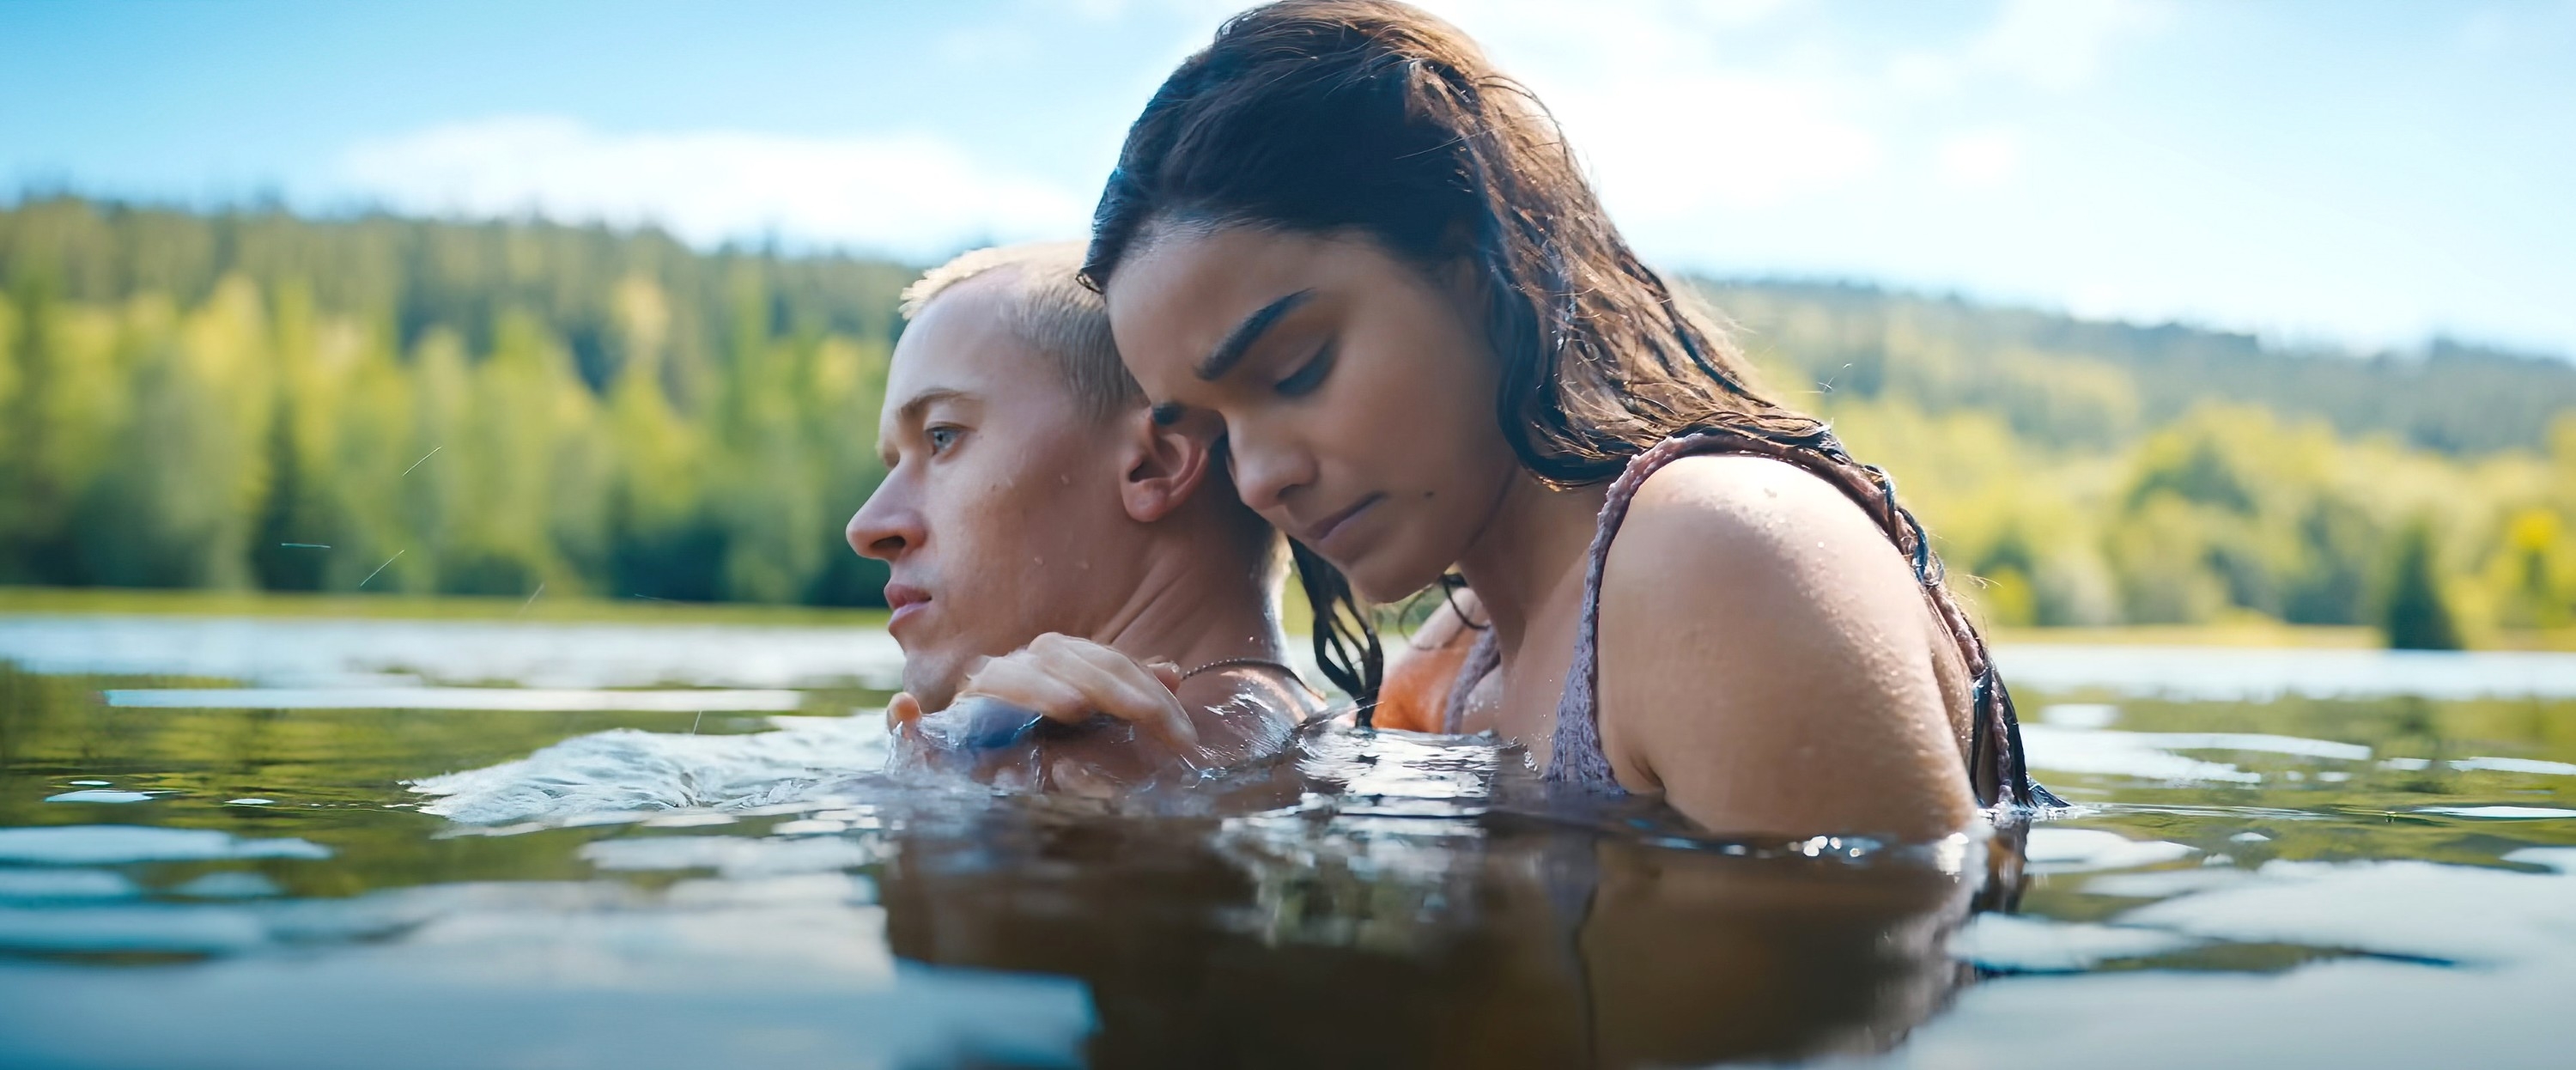
[[[544, 222], [0, 209], [0, 583], [866, 606], [917, 266]], [[2004, 627], [2576, 627], [2576, 366], [1700, 281]]]

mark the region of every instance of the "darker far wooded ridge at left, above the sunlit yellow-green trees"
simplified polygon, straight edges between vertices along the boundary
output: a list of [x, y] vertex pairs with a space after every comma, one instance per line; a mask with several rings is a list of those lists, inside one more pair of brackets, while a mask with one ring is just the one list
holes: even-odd
[[451, 330], [474, 353], [489, 348], [500, 312], [518, 309], [564, 338], [592, 387], [623, 361], [626, 278], [652, 278], [670, 297], [677, 384], [721, 364], [742, 333], [889, 340], [894, 297], [914, 271], [750, 248], [701, 253], [657, 229], [598, 224], [196, 214], [70, 196], [0, 209], [0, 289], [21, 299], [160, 294], [191, 307], [240, 276], [260, 289], [294, 284], [317, 309], [381, 325], [397, 351]]

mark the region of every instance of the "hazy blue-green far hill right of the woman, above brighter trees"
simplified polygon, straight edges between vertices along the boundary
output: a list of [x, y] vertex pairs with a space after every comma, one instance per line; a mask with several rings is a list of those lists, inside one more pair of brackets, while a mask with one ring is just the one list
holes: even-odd
[[2272, 348], [2251, 335], [1971, 304], [1847, 284], [1700, 281], [1777, 389], [1999, 410], [2053, 446], [2115, 446], [2195, 402], [2318, 415], [2445, 454], [2540, 449], [2576, 407], [2576, 364], [2434, 340], [2421, 353]]

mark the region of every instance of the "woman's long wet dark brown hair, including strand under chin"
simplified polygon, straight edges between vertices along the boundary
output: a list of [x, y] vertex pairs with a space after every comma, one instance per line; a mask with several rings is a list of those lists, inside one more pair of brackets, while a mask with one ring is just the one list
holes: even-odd
[[[1613, 480], [1690, 431], [1855, 464], [1821, 420], [1757, 392], [1728, 338], [1638, 260], [1538, 98], [1419, 8], [1288, 0], [1229, 18], [1128, 129], [1082, 273], [1105, 286], [1151, 235], [1218, 227], [1471, 266], [1502, 364], [1494, 415], [1548, 485]], [[1303, 547], [1296, 570], [1316, 660], [1365, 722], [1383, 676], [1368, 606]]]

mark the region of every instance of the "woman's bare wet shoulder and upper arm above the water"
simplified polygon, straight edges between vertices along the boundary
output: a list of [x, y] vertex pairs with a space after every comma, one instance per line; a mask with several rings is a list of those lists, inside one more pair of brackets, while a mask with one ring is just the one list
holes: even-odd
[[1824, 480], [1757, 456], [1656, 472], [1600, 614], [1602, 745], [1631, 789], [1726, 833], [1922, 841], [1973, 817], [1935, 670], [1947, 639]]

